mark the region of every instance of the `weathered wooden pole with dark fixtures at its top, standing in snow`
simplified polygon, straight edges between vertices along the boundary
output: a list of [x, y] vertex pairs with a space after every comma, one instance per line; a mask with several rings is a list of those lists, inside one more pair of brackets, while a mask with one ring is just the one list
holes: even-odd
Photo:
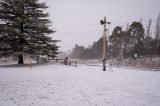
[[107, 26], [107, 24], [110, 24], [110, 22], [107, 22], [106, 17], [104, 17], [104, 20], [101, 20], [100, 23], [101, 23], [101, 25], [104, 26], [104, 31], [103, 31], [103, 36], [102, 36], [102, 38], [103, 38], [102, 60], [103, 60], [103, 71], [106, 71], [106, 49], [107, 49], [106, 43], [107, 43], [107, 30], [108, 30], [106, 28], [106, 26]]

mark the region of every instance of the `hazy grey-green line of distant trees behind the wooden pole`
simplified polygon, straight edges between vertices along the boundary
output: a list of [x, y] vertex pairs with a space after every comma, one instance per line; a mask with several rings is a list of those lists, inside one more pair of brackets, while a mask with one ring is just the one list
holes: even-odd
[[[144, 29], [141, 22], [127, 25], [125, 30], [116, 26], [109, 36], [106, 58], [141, 58], [160, 56], [160, 14], [156, 19], [155, 31], [151, 32], [152, 19], [149, 19]], [[152, 37], [151, 35], [154, 35]], [[102, 38], [92, 46], [85, 48], [75, 45], [71, 53], [72, 58], [99, 59], [102, 57]]]

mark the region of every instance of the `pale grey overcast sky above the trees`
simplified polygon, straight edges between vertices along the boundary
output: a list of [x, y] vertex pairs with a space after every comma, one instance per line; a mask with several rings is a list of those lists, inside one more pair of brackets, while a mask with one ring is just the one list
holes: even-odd
[[[127, 23], [140, 21], [144, 28], [149, 18], [155, 23], [160, 12], [160, 0], [40, 0], [47, 2], [50, 19], [56, 33], [53, 39], [61, 51], [71, 50], [75, 44], [87, 47], [103, 34], [100, 20], [106, 16], [110, 34], [115, 26], [126, 28]], [[152, 24], [152, 27], [154, 25]], [[153, 34], [153, 32], [152, 32]]]

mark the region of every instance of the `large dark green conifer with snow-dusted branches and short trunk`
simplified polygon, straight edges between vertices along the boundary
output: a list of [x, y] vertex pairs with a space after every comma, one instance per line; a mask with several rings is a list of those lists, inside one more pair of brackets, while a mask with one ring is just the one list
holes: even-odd
[[0, 56], [17, 56], [23, 64], [23, 56], [49, 56], [58, 54], [57, 40], [48, 35], [51, 21], [45, 11], [48, 7], [38, 0], [0, 1]]

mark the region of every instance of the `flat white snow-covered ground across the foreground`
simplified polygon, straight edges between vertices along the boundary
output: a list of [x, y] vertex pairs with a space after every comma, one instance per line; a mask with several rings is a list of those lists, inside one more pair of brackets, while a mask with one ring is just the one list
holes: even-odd
[[160, 106], [160, 71], [0, 66], [0, 106]]

